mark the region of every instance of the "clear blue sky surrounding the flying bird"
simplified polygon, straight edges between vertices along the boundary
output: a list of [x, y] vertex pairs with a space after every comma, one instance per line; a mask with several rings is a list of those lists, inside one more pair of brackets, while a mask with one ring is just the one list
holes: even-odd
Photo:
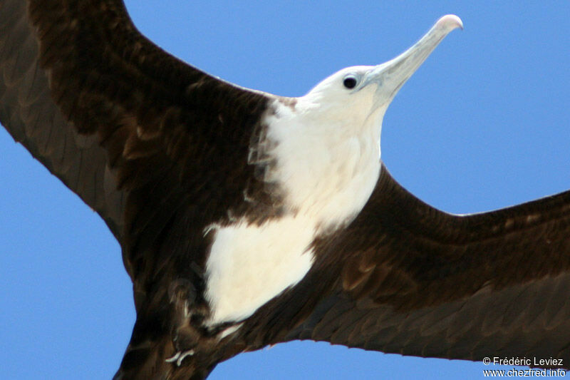
[[[439, 16], [454, 31], [396, 96], [382, 159], [420, 199], [480, 212], [570, 188], [568, 1], [127, 1], [167, 51], [249, 88], [301, 96], [387, 61]], [[108, 379], [135, 320], [102, 220], [0, 130], [0, 379]], [[489, 353], [492, 354], [492, 353]], [[480, 363], [294, 342], [212, 379], [480, 379]]]

